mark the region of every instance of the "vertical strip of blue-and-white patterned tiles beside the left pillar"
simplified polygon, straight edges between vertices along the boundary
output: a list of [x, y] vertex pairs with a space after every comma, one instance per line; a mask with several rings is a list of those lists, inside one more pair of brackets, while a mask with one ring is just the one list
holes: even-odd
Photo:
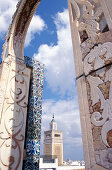
[[38, 169], [37, 167], [40, 157], [44, 65], [29, 57], [25, 57], [25, 63], [32, 68], [26, 139], [25, 169], [27, 170], [29, 166], [32, 169]]

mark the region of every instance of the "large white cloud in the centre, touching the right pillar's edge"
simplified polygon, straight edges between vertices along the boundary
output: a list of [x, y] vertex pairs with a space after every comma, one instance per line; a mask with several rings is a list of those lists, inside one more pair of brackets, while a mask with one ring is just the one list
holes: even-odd
[[49, 87], [60, 94], [74, 91], [74, 61], [68, 10], [58, 12], [54, 23], [57, 45], [42, 44], [34, 58], [45, 64], [45, 78]]

